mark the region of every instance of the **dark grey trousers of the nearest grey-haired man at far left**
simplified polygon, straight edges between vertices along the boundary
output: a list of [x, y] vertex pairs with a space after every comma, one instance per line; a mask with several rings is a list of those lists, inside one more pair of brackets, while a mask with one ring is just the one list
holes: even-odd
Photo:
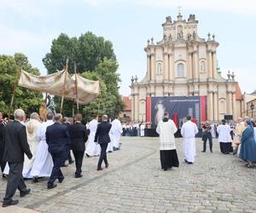
[[9, 178], [6, 187], [5, 198], [3, 202], [11, 201], [12, 197], [15, 195], [17, 188], [20, 192], [26, 191], [26, 184], [22, 176], [23, 163], [9, 163]]

